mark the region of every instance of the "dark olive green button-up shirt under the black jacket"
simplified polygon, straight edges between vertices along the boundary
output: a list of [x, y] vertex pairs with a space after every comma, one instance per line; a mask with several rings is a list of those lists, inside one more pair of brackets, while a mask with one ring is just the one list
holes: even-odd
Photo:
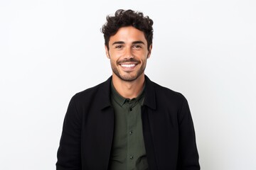
[[114, 139], [110, 169], [148, 169], [141, 118], [144, 89], [137, 98], [129, 99], [120, 96], [112, 84], [111, 102], [114, 108]]

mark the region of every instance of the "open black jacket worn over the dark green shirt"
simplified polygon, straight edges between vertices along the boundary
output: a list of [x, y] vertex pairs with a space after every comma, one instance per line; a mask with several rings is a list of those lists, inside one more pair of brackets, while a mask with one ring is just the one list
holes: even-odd
[[[112, 77], [71, 98], [58, 148], [57, 170], [107, 170], [114, 132]], [[142, 128], [150, 170], [199, 170], [186, 98], [145, 76]]]

